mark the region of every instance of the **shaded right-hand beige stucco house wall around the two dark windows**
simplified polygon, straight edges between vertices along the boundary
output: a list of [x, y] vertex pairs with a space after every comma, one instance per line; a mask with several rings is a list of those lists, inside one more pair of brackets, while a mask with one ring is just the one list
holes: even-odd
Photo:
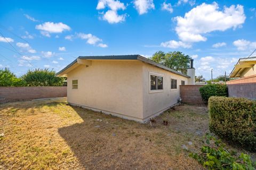
[[[163, 76], [163, 90], [150, 91], [150, 73]], [[177, 89], [171, 89], [171, 78], [177, 79]], [[177, 103], [180, 97], [181, 80], [188, 84], [188, 78], [165, 71], [150, 64], [143, 64], [143, 117], [148, 119], [162, 113], [165, 109]]]

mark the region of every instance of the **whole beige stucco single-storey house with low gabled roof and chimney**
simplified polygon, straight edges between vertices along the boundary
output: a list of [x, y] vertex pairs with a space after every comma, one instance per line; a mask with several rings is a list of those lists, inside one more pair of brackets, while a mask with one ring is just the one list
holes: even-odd
[[176, 104], [179, 85], [195, 79], [140, 55], [79, 56], [57, 76], [68, 78], [69, 104], [140, 122]]

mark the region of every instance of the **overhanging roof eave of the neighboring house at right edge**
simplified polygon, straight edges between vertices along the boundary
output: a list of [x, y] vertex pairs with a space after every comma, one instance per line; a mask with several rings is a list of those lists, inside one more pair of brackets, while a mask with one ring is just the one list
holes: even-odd
[[251, 68], [256, 64], [256, 56], [249, 57], [249, 58], [239, 58], [238, 62], [236, 63], [234, 69], [229, 74], [230, 78], [239, 78], [241, 73], [246, 68]]

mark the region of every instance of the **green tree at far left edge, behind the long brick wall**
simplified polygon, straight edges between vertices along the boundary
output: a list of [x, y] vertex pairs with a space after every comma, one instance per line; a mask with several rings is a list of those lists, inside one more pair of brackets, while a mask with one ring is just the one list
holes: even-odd
[[0, 69], [0, 86], [26, 86], [26, 82], [5, 68]]

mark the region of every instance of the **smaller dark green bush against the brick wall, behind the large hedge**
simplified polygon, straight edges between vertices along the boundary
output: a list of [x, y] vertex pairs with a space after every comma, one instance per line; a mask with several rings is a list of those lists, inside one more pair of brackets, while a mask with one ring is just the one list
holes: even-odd
[[227, 96], [228, 97], [228, 87], [222, 84], [207, 84], [199, 88], [201, 96], [204, 101], [208, 101], [211, 96]]

